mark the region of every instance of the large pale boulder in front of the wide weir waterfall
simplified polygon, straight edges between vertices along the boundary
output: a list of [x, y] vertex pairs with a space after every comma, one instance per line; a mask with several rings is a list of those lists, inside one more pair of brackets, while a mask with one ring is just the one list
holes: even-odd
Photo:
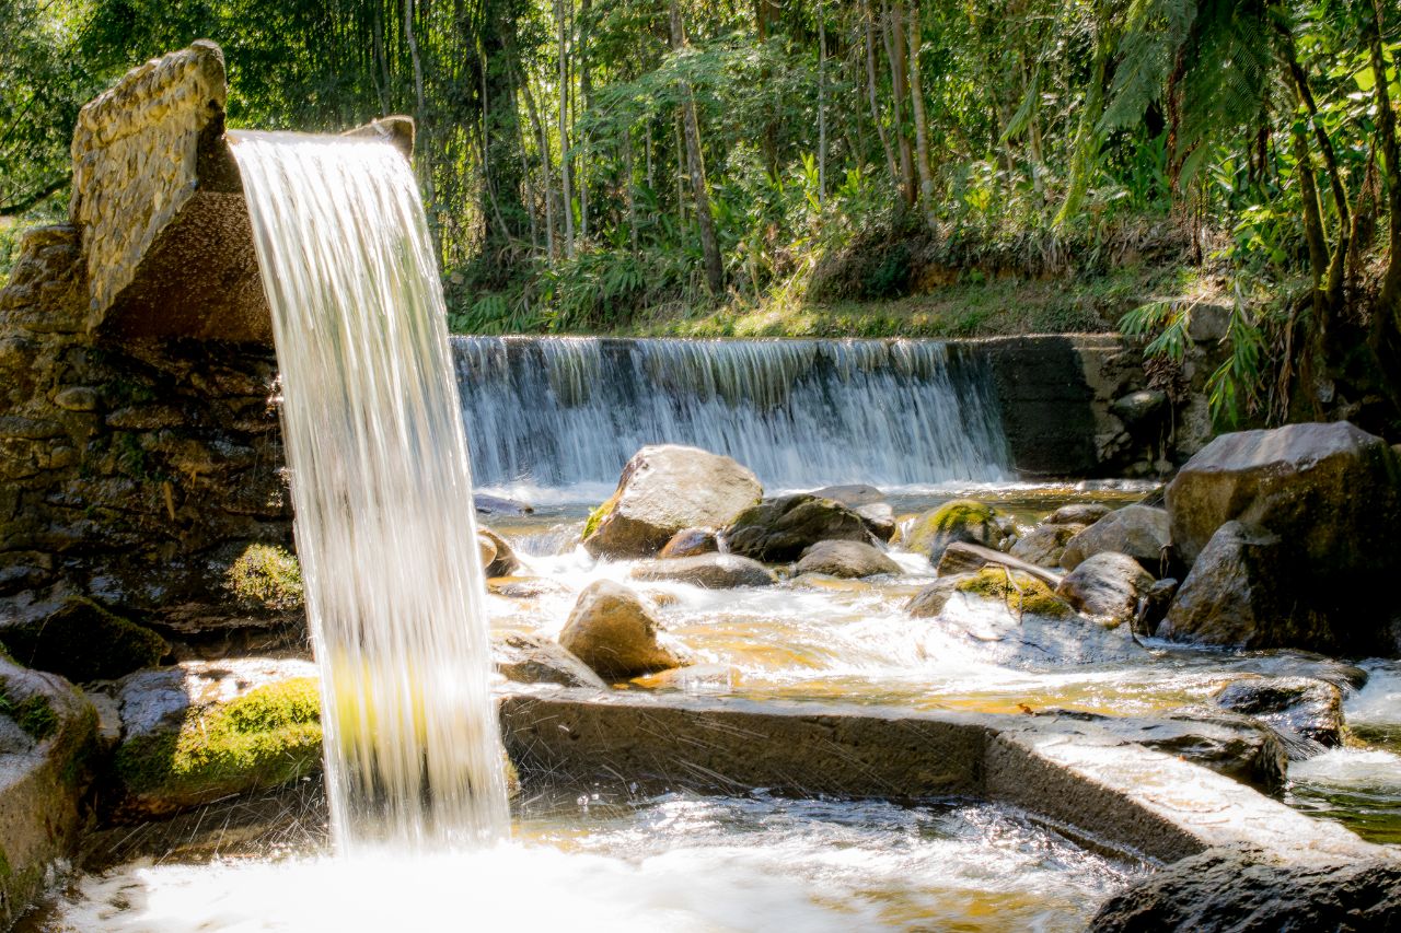
[[665, 444], [643, 447], [612, 497], [584, 527], [588, 553], [650, 558], [682, 528], [723, 528], [759, 502], [758, 478], [719, 454]]

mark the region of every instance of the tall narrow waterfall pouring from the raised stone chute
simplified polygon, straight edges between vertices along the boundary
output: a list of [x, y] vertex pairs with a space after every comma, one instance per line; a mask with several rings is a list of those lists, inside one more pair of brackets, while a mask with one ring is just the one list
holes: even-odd
[[413, 174], [382, 141], [231, 140], [282, 370], [333, 838], [500, 838], [467, 441]]

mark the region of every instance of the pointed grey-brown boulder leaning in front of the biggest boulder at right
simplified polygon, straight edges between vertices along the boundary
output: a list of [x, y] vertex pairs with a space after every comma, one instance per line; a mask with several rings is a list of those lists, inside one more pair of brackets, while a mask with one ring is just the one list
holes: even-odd
[[1198, 555], [1159, 626], [1161, 637], [1234, 647], [1342, 647], [1297, 598], [1278, 535], [1229, 521]]

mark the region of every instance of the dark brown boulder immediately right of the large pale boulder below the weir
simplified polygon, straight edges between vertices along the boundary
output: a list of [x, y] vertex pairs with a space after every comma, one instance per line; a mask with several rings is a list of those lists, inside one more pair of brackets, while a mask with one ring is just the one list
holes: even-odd
[[870, 532], [846, 506], [810, 493], [765, 499], [724, 530], [731, 552], [765, 563], [797, 560], [818, 541], [870, 541]]

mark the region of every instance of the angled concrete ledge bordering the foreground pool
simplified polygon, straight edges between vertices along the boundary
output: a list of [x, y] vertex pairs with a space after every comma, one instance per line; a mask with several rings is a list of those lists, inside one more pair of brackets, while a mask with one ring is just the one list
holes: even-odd
[[500, 705], [506, 747], [525, 780], [982, 797], [1163, 863], [1224, 845], [1293, 862], [1387, 853], [1229, 778], [1070, 717], [569, 689], [513, 692]]

